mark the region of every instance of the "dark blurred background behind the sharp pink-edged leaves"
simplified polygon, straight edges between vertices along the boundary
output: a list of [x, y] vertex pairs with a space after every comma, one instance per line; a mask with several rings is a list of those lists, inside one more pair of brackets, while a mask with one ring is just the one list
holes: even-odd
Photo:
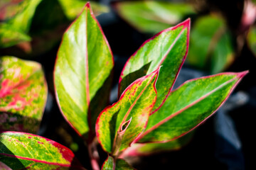
[[[86, 3], [86, 1], [79, 1], [80, 4], [78, 3], [73, 11], [68, 11], [68, 2], [65, 4], [63, 1], [42, 0], [36, 6], [36, 11], [31, 17], [30, 28], [24, 30], [24, 33], [31, 37], [31, 41], [11, 42], [10, 40], [11, 43], [8, 47], [1, 43], [0, 55], [13, 55], [22, 59], [40, 62], [43, 65], [49, 93], [46, 111], [43, 115], [38, 135], [48, 137], [73, 149], [73, 152], [75, 152], [75, 155], [85, 168], [90, 169], [87, 148], [82, 139], [65, 122], [54, 96], [53, 67], [61, 37], [68, 25], [78, 15], [78, 11], [82, 10], [82, 4]], [[0, 3], [2, 5], [0, 14], [3, 14], [3, 4], [6, 2], [6, 0], [3, 0]], [[17, 4], [22, 1], [12, 2]], [[126, 15], [122, 11], [125, 8], [119, 7], [122, 2], [124, 1], [92, 1], [92, 3], [95, 3], [92, 4], [92, 10], [97, 14], [97, 20], [100, 22], [114, 54], [114, 79], [110, 103], [117, 101], [119, 75], [128, 58], [152, 35], [165, 27], [174, 26], [188, 17], [191, 18], [191, 45], [188, 50], [187, 61], [183, 65], [176, 81], [176, 87], [187, 79], [204, 75], [218, 72], [250, 71], [242, 79], [225, 105], [203, 125], [194, 130], [191, 141], [181, 149], [155, 153], [150, 156], [133, 157], [127, 159], [127, 161], [137, 169], [253, 169], [255, 140], [252, 140], [252, 130], [255, 130], [256, 113], [256, 81], [254, 81], [256, 75], [256, 38], [253, 38], [255, 36], [253, 30], [256, 9], [254, 2], [243, 0], [166, 1], [170, 3], [170, 6], [177, 3], [190, 6], [185, 8], [186, 12], [181, 13], [182, 10], [177, 10], [178, 12], [176, 13], [178, 14], [176, 15], [178, 17], [174, 20], [170, 19], [170, 21], [168, 17], [171, 13], [163, 14], [166, 15], [166, 20], [163, 20], [163, 18], [158, 19], [154, 16], [156, 15], [154, 12], [157, 13], [159, 8], [155, 11], [154, 6], [147, 6], [147, 8], [136, 7], [136, 4], [132, 4], [136, 1], [129, 1], [129, 3], [135, 6], [130, 8], [134, 9], [133, 13], [138, 13], [137, 16]], [[72, 3], [71, 1], [70, 4]], [[164, 10], [168, 10], [167, 7]], [[137, 26], [138, 23], [134, 23], [132, 19], [130, 20], [130, 18], [138, 16], [142, 18], [148, 17], [147, 14], [143, 15], [141, 13], [149, 10], [148, 8], [152, 12], [151, 15], [156, 18], [156, 21], [154, 21], [156, 29], [150, 28], [150, 25]], [[191, 11], [188, 11], [188, 9]], [[8, 21], [9, 18], [15, 15], [14, 9], [11, 8], [9, 10], [12, 13], [9, 12], [5, 16], [0, 15], [1, 23]], [[149, 11], [146, 11], [146, 13]], [[202, 27], [200, 23], [206, 17], [213, 17], [216, 23], [220, 23], [220, 28], [216, 27], [212, 32], [210, 32], [210, 27], [205, 28], [205, 30], [209, 29], [210, 32], [206, 33], [206, 35], [197, 33], [196, 31]], [[141, 24], [146, 23], [141, 20]], [[207, 21], [205, 24], [206, 26], [208, 24], [209, 26], [213, 25], [213, 23], [207, 23]], [[223, 30], [223, 32], [220, 30]], [[197, 39], [198, 36], [196, 35], [208, 38], [209, 41], [216, 40], [207, 54], [201, 54], [201, 51], [195, 52], [195, 49], [193, 49], [193, 45], [196, 47], [198, 42], [202, 42]], [[1, 36], [3, 35], [0, 33], [0, 40]], [[222, 41], [221, 38], [225, 36], [228, 38]], [[193, 37], [196, 39], [193, 39]], [[207, 40], [203, 42], [207, 43]], [[223, 46], [221, 44], [218, 46], [218, 43], [228, 43], [229, 46], [224, 47], [223, 50]], [[199, 46], [208, 48], [203, 44]], [[216, 57], [215, 53], [220, 55]], [[203, 57], [204, 62], [197, 59], [195, 57], [197, 55]], [[219, 56], [223, 56], [225, 59], [219, 59]], [[100, 147], [98, 149], [102, 155], [100, 160], [102, 164], [107, 154]]]

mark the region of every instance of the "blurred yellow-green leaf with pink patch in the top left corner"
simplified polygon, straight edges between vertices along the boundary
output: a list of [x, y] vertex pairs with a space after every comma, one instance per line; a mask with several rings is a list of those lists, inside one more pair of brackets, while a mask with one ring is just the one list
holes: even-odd
[[3, 3], [3, 6], [0, 4], [3, 17], [6, 19], [4, 23], [0, 23], [0, 47], [11, 47], [31, 40], [27, 34], [31, 28], [36, 7], [41, 1], [24, 0], [20, 3], [9, 1], [9, 3]]

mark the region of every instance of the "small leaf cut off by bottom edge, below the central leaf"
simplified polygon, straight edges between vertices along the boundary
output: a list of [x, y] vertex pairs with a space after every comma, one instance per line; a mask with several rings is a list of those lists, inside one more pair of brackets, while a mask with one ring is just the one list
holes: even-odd
[[133, 168], [124, 159], [117, 159], [114, 162], [114, 158], [108, 156], [102, 165], [102, 170], [133, 170]]

